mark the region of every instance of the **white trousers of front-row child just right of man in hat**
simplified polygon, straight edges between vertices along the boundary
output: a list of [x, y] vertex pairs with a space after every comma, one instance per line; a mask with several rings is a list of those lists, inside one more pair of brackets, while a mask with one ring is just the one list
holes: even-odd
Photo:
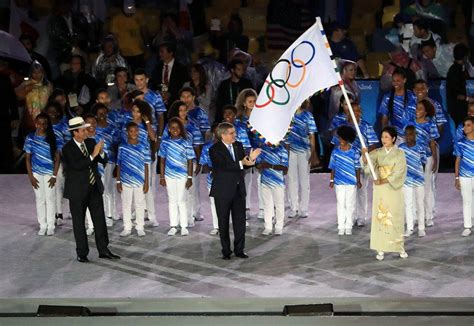
[[122, 185], [122, 213], [124, 230], [132, 230], [132, 202], [135, 208], [135, 229], [145, 227], [145, 194], [142, 187], [132, 188]]

